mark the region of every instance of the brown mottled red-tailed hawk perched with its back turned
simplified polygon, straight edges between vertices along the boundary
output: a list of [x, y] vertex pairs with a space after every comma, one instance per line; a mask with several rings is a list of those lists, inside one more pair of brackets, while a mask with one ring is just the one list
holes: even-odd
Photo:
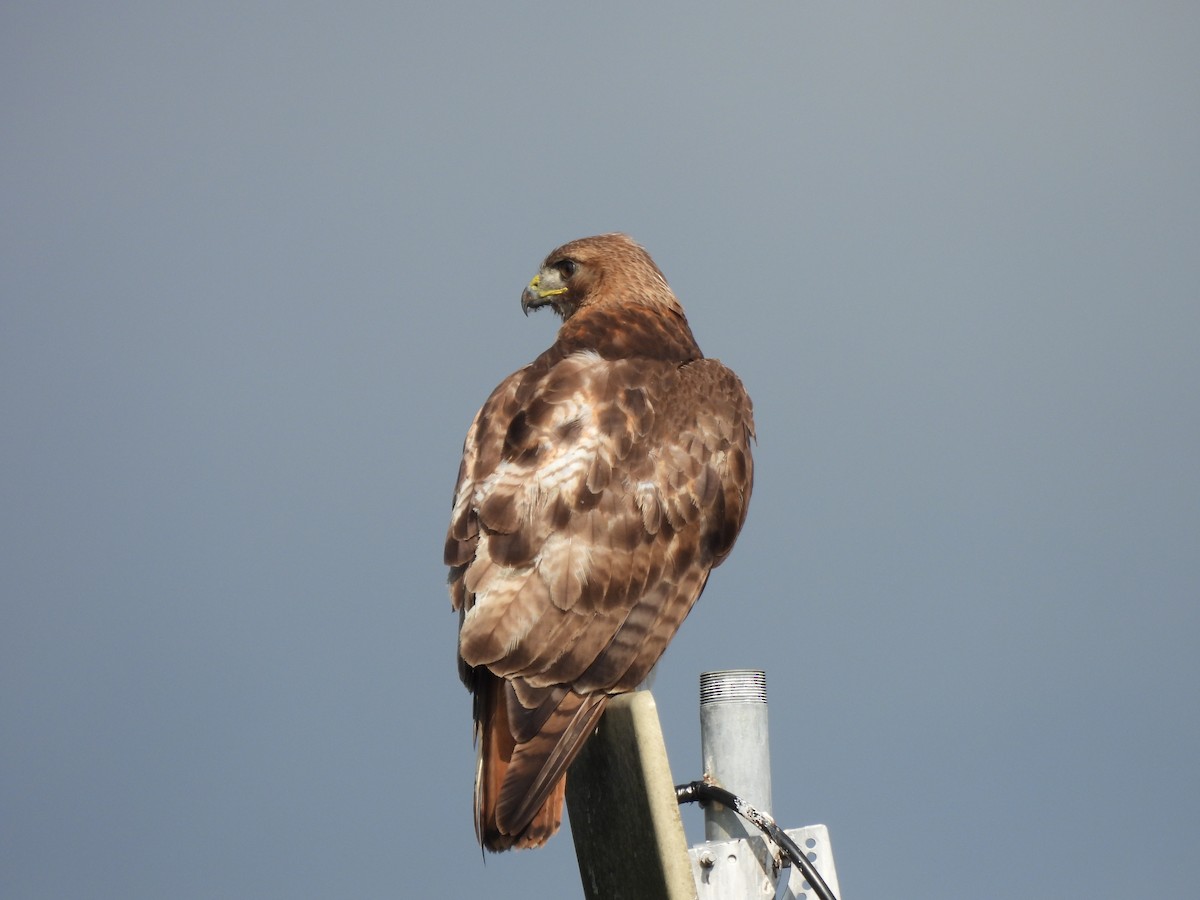
[[728, 556], [754, 479], [742, 382], [630, 238], [553, 251], [521, 306], [563, 325], [475, 415], [445, 546], [497, 851], [558, 829], [568, 766]]

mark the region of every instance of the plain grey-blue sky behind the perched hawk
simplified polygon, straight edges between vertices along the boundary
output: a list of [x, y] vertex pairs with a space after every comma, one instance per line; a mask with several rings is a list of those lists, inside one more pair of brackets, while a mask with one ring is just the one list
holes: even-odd
[[[659, 667], [770, 689], [846, 898], [1190, 896], [1200, 6], [5, 4], [0, 895], [581, 896], [485, 862], [462, 438], [625, 230], [756, 404]], [[685, 810], [692, 840], [698, 811]]]

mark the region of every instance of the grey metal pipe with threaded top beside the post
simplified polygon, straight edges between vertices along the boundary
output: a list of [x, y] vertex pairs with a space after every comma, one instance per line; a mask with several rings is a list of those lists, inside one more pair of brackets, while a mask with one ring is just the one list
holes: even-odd
[[[701, 672], [700, 745], [706, 779], [770, 815], [766, 672], [750, 668]], [[706, 840], [738, 840], [749, 835], [733, 810], [715, 803], [704, 808]]]

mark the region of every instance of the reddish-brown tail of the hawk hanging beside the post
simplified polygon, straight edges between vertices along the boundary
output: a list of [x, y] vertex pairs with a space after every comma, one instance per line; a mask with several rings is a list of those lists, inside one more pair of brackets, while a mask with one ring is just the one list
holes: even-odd
[[512, 685], [475, 671], [475, 834], [487, 850], [540, 847], [563, 822], [566, 769], [588, 739], [608, 695], [534, 691], [526, 707]]

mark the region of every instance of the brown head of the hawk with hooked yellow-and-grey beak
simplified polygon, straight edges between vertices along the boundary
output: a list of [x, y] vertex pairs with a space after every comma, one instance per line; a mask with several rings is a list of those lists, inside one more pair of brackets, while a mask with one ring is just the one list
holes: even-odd
[[521, 308], [553, 307], [564, 319], [601, 304], [637, 304], [679, 310], [667, 280], [628, 234], [600, 234], [564, 244], [546, 257], [521, 294]]

